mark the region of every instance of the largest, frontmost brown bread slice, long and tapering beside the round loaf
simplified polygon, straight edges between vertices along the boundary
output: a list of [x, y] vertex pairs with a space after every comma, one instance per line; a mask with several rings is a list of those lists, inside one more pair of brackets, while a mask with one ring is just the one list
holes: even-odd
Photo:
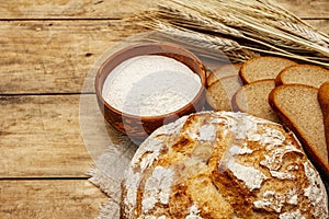
[[317, 95], [316, 88], [284, 84], [272, 90], [269, 103], [284, 125], [296, 134], [322, 176], [329, 180], [325, 126]]

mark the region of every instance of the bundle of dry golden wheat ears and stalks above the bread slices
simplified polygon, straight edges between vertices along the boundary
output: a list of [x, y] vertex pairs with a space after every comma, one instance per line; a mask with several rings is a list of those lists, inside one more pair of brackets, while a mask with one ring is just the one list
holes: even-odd
[[172, 0], [139, 19], [144, 26], [231, 58], [238, 53], [246, 58], [248, 50], [329, 68], [329, 37], [271, 0]]

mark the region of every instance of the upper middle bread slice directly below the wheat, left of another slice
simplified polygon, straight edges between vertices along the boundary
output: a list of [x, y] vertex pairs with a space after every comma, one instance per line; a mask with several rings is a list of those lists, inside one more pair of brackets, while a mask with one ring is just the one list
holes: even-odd
[[239, 74], [246, 84], [263, 79], [275, 79], [283, 69], [293, 65], [296, 62], [285, 58], [256, 57], [242, 65]]

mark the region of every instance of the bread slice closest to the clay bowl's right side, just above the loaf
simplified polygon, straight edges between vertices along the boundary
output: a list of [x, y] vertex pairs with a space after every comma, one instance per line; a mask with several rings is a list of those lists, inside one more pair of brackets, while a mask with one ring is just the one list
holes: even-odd
[[231, 99], [242, 87], [238, 74], [224, 77], [211, 84], [206, 91], [206, 102], [215, 111], [234, 111]]

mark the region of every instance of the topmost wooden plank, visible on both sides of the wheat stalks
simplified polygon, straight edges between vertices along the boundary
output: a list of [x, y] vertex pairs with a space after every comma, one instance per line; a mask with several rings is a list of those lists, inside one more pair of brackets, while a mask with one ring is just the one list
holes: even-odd
[[[328, 18], [327, 0], [276, 0], [300, 18]], [[151, 0], [48, 0], [1, 1], [0, 19], [118, 19], [154, 5]]]

